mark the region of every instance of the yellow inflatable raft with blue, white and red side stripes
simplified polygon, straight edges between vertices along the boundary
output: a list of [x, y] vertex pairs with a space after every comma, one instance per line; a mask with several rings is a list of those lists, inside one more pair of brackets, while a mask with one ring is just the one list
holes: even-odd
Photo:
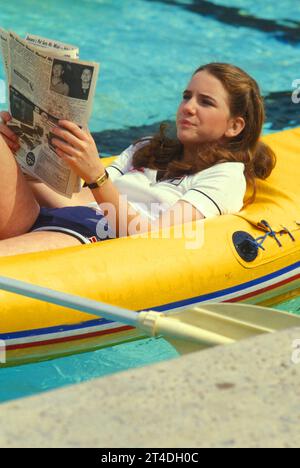
[[[174, 311], [199, 302], [273, 305], [298, 295], [300, 129], [264, 140], [276, 152], [277, 166], [242, 212], [201, 221], [204, 230], [191, 223], [181, 238], [173, 230], [169, 239], [137, 236], [7, 257], [1, 275], [137, 311]], [[204, 233], [196, 248], [193, 232]], [[139, 337], [129, 326], [63, 307], [3, 291], [0, 299], [8, 365]]]

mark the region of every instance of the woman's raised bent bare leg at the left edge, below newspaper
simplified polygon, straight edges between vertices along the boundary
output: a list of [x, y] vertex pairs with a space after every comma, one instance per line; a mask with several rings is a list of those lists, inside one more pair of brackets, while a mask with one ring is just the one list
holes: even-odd
[[39, 214], [39, 204], [12, 152], [0, 137], [0, 239], [26, 233]]

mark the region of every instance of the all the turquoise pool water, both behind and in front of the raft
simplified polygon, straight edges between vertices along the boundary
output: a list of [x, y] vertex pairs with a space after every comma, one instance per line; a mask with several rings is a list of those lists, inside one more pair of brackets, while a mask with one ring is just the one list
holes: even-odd
[[[82, 59], [101, 63], [90, 127], [103, 155], [173, 122], [191, 73], [211, 61], [235, 63], [257, 79], [265, 133], [300, 126], [300, 105], [291, 100], [300, 79], [294, 0], [10, 0], [0, 19], [20, 35], [74, 43]], [[278, 308], [299, 313], [300, 298]], [[176, 356], [163, 339], [149, 339], [1, 369], [0, 402]]]

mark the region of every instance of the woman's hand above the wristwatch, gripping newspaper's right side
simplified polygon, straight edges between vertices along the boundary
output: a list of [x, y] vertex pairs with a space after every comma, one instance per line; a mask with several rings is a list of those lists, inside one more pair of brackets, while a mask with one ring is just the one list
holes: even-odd
[[60, 120], [52, 133], [56, 154], [85, 182], [95, 182], [105, 172], [96, 143], [89, 131], [68, 120]]

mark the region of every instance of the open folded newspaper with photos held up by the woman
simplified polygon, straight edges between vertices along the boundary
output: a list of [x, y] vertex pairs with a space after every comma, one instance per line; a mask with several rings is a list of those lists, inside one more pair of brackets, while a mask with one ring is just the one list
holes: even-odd
[[55, 153], [52, 130], [59, 119], [88, 127], [99, 65], [78, 59], [75, 46], [0, 29], [12, 120], [19, 136], [16, 159], [29, 174], [69, 198], [81, 179]]

